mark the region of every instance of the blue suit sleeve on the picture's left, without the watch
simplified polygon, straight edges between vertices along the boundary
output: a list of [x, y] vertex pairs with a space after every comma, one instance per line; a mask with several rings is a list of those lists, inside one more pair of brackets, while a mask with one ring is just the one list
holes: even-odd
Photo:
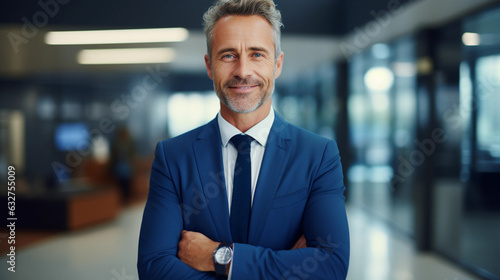
[[140, 279], [216, 279], [214, 274], [200, 272], [179, 260], [177, 246], [182, 229], [179, 195], [165, 161], [162, 143], [159, 143], [139, 237], [137, 270]]

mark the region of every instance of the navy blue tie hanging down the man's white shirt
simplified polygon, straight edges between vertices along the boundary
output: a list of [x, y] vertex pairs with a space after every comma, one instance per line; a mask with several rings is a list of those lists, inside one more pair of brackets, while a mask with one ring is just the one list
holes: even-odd
[[233, 242], [247, 243], [250, 211], [252, 208], [252, 163], [250, 159], [250, 143], [253, 138], [248, 135], [235, 135], [231, 143], [238, 151], [234, 166], [233, 199], [231, 202], [231, 235]]

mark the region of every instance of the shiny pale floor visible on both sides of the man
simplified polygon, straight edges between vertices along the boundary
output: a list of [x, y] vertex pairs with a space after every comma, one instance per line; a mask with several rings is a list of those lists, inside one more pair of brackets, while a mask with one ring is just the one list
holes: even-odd
[[[0, 279], [136, 280], [137, 239], [143, 205], [112, 223], [64, 233], [16, 252], [16, 272], [0, 258]], [[349, 206], [349, 280], [474, 280], [433, 254], [418, 254], [410, 240]]]

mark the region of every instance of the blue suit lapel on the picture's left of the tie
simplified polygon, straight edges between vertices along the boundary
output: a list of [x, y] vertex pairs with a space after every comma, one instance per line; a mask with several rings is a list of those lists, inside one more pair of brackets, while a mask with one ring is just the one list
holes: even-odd
[[217, 118], [201, 131], [193, 149], [207, 207], [219, 241], [230, 241], [229, 208]]

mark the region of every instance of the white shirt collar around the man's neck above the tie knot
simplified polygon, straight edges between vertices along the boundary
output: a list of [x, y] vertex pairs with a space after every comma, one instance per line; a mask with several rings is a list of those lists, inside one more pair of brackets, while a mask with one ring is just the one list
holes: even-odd
[[[229, 142], [229, 140], [231, 140], [231, 138], [234, 135], [243, 134], [243, 132], [241, 132], [239, 129], [237, 129], [228, 121], [226, 121], [222, 117], [220, 112], [217, 115], [217, 122], [219, 124], [220, 136], [222, 140], [222, 145], [224, 147], [227, 146], [227, 143]], [[273, 126], [273, 122], [274, 122], [274, 110], [271, 108], [267, 117], [265, 117], [258, 124], [251, 127], [244, 134], [252, 136], [252, 138], [255, 139], [260, 145], [265, 147], [267, 144], [267, 137], [269, 136], [269, 132], [271, 131], [271, 127]]]

